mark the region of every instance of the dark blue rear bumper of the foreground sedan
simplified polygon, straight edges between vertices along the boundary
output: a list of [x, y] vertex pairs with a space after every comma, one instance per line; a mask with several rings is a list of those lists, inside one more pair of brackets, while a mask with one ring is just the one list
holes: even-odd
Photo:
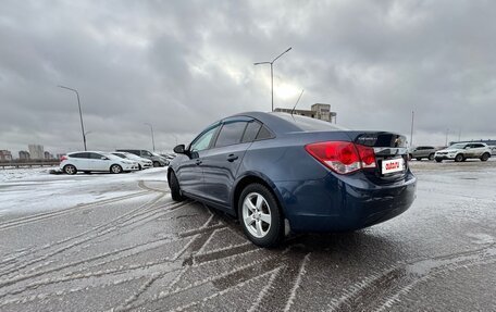
[[283, 182], [285, 216], [294, 232], [345, 232], [368, 227], [405, 212], [416, 198], [417, 178], [410, 172], [390, 185], [375, 185], [362, 173], [319, 180]]

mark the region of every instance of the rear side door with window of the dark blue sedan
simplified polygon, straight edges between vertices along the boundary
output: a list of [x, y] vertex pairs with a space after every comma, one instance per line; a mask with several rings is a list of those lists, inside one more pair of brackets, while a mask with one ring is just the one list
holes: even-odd
[[204, 197], [230, 207], [230, 195], [246, 150], [256, 138], [261, 124], [249, 117], [222, 122], [212, 148], [202, 157]]

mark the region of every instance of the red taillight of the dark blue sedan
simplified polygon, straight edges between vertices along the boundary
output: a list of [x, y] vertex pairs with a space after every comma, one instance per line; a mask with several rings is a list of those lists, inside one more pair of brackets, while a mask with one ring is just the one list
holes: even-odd
[[307, 145], [305, 149], [318, 161], [339, 174], [375, 167], [375, 153], [371, 147], [344, 141], [326, 141]]

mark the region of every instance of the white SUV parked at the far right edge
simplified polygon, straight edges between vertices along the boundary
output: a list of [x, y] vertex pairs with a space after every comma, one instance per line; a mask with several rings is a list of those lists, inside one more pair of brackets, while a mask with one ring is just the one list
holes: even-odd
[[487, 161], [491, 158], [491, 148], [486, 143], [481, 142], [455, 143], [444, 150], [436, 151], [434, 158], [436, 162], [442, 162], [443, 160], [460, 162], [467, 159]]

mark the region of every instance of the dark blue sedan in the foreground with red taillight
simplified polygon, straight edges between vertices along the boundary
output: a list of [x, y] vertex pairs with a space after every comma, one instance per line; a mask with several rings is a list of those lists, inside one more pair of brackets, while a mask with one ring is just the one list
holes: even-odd
[[287, 113], [244, 113], [176, 146], [168, 180], [173, 200], [237, 216], [253, 244], [271, 247], [289, 232], [354, 230], [405, 212], [417, 185], [405, 142]]

